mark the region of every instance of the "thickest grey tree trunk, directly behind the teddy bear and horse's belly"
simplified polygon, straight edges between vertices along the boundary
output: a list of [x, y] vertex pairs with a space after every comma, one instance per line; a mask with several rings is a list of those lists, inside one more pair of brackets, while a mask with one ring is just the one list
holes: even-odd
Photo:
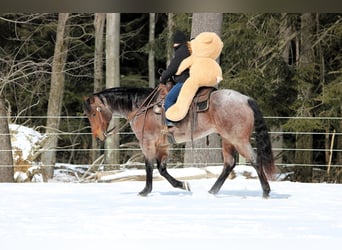
[[[192, 15], [191, 37], [194, 38], [204, 31], [211, 31], [221, 35], [222, 19], [222, 13], [194, 13]], [[193, 143], [194, 145], [192, 145], [192, 142], [186, 143], [184, 165], [222, 165], [221, 138], [217, 134], [198, 139]], [[208, 153], [209, 150], [210, 154]]]

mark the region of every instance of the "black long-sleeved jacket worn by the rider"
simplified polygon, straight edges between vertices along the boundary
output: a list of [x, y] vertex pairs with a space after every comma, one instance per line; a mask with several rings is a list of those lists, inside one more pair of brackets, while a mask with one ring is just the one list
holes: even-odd
[[173, 77], [174, 82], [185, 82], [185, 80], [189, 77], [189, 69], [184, 70], [180, 75], [175, 75], [180, 63], [183, 59], [190, 56], [190, 52], [188, 49], [187, 43], [182, 43], [181, 45], [175, 47], [174, 49], [174, 57], [171, 60], [167, 69], [162, 73], [160, 77], [160, 83], [166, 83], [171, 77]]

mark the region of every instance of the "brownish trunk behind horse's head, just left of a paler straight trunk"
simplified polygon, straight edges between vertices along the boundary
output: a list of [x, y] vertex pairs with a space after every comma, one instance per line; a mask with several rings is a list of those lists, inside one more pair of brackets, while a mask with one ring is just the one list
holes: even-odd
[[[94, 27], [95, 27], [95, 53], [94, 53], [94, 92], [99, 92], [104, 88], [103, 81], [103, 49], [104, 49], [104, 26], [106, 21], [105, 13], [95, 13]], [[99, 156], [100, 152], [97, 140], [92, 137], [92, 151], [91, 160], [94, 162]]]

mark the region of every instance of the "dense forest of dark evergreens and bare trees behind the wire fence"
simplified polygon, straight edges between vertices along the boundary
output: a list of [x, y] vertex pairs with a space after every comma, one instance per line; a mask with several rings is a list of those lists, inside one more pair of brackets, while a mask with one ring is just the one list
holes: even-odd
[[[119, 72], [114, 72], [113, 84], [154, 87], [159, 69], [165, 69], [172, 57], [173, 31], [183, 30], [190, 38], [192, 17], [189, 13], [121, 13], [113, 20], [111, 15], [93, 13], [2, 14], [1, 122], [9, 117], [8, 122], [41, 133], [54, 127], [50, 133], [56, 134], [57, 150], [50, 151], [55, 153], [50, 165], [56, 161], [92, 163], [98, 155], [87, 151], [96, 145], [83, 119], [82, 102], [84, 96], [108, 87], [108, 41], [118, 48], [112, 61], [119, 64]], [[312, 168], [300, 165], [326, 164], [329, 159], [342, 163], [342, 120], [311, 119], [342, 117], [341, 20], [336, 13], [222, 14], [224, 80], [219, 88], [253, 97], [265, 116], [283, 117], [267, 123], [270, 128], [281, 128], [282, 143], [290, 148], [328, 149], [334, 141], [333, 157], [328, 150], [280, 152], [281, 162], [298, 164], [294, 180], [312, 181]], [[112, 21], [119, 28], [111, 28], [115, 27]], [[59, 70], [62, 74], [54, 74]], [[54, 82], [60, 81], [64, 84], [53, 89], [58, 87]], [[61, 103], [51, 105], [53, 94], [62, 97]], [[60, 110], [53, 111], [53, 107]], [[55, 120], [49, 123], [53, 112], [63, 119], [51, 118]], [[296, 133], [286, 134], [291, 131]], [[336, 136], [332, 137], [332, 131]], [[122, 134], [116, 140], [127, 144], [135, 139]], [[1, 148], [4, 143], [1, 139]], [[72, 150], [58, 150], [63, 148]], [[114, 157], [117, 164], [127, 160], [125, 154]], [[340, 168], [335, 176], [335, 181], [342, 179]]]

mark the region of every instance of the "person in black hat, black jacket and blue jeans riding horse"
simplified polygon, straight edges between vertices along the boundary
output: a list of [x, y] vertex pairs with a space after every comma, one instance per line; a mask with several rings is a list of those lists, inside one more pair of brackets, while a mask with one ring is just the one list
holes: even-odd
[[[162, 73], [159, 82], [161, 84], [166, 84], [169, 78], [173, 78], [173, 81], [176, 83], [175, 86], [170, 90], [170, 92], [165, 97], [164, 108], [165, 111], [171, 107], [177, 101], [177, 97], [179, 92], [183, 86], [185, 80], [189, 77], [189, 69], [184, 70], [180, 75], [175, 75], [180, 63], [183, 59], [190, 56], [190, 50], [188, 47], [188, 39], [186, 35], [177, 30], [173, 35], [173, 48], [174, 48], [174, 57], [171, 60], [167, 69]], [[173, 122], [166, 119], [166, 125], [168, 127], [174, 126]]]

